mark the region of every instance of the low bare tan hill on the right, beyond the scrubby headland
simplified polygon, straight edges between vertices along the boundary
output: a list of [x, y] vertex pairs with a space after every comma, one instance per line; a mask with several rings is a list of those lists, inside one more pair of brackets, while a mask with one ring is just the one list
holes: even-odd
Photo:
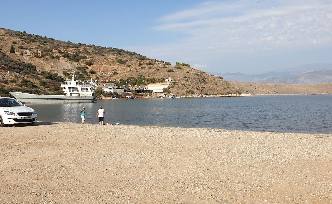
[[251, 95], [273, 94], [332, 94], [332, 83], [329, 84], [276, 84], [255, 82], [230, 82], [234, 86], [244, 89]]

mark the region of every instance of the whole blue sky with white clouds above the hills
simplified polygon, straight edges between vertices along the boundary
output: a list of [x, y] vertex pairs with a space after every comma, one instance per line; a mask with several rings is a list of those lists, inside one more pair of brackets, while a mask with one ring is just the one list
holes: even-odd
[[3, 1], [0, 27], [206, 72], [332, 63], [331, 0]]

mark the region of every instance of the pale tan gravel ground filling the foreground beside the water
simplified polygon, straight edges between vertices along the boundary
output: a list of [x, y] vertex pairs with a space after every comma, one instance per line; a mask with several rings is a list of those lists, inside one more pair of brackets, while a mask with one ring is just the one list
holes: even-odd
[[0, 129], [0, 203], [332, 203], [332, 135], [45, 123]]

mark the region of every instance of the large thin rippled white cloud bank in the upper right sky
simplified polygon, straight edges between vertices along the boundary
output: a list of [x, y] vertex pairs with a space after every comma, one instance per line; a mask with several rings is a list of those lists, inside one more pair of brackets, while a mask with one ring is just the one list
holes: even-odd
[[183, 44], [195, 40], [209, 49], [241, 53], [331, 44], [331, 18], [329, 1], [206, 2], [161, 17], [153, 29], [188, 34]]

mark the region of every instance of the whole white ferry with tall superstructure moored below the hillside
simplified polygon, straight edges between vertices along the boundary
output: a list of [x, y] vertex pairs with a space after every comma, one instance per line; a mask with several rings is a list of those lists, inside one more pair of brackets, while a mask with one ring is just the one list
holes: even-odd
[[37, 95], [22, 92], [10, 92], [18, 101], [24, 103], [69, 103], [94, 102], [96, 100], [93, 81], [62, 81], [61, 88], [65, 95]]

